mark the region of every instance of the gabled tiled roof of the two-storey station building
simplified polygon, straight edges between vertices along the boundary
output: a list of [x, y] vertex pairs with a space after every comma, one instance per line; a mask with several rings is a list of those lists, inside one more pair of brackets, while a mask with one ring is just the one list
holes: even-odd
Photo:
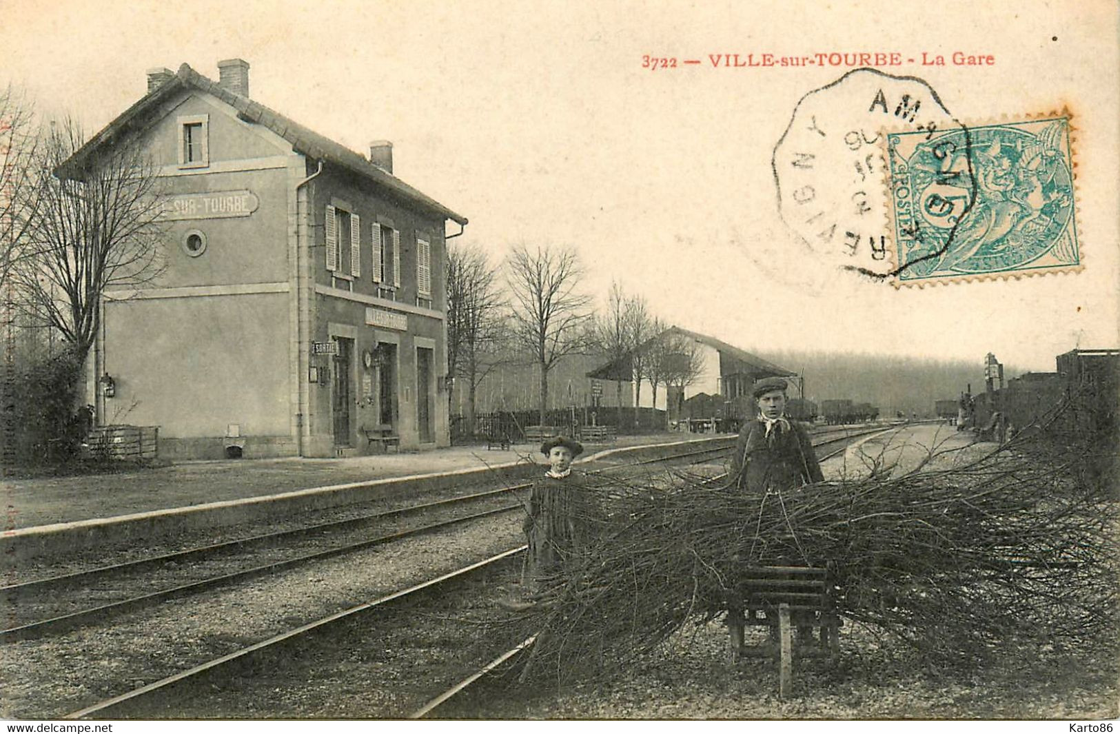
[[409, 186], [396, 176], [374, 166], [360, 154], [354, 152], [346, 146], [320, 136], [314, 130], [306, 128], [284, 115], [270, 110], [259, 102], [254, 102], [246, 96], [231, 92], [221, 86], [217, 82], [206, 78], [189, 64], [184, 64], [179, 71], [167, 82], [148, 92], [144, 96], [122, 112], [110, 122], [101, 132], [93, 136], [84, 146], [74, 152], [56, 174], [63, 177], [76, 177], [81, 171], [85, 159], [97, 148], [110, 145], [122, 134], [141, 129], [149, 120], [149, 114], [159, 111], [161, 105], [183, 90], [200, 90], [212, 94], [226, 104], [237, 110], [237, 117], [246, 122], [254, 122], [277, 133], [291, 143], [298, 152], [309, 158], [327, 160], [338, 166], [343, 166], [356, 174], [365, 176], [374, 183], [388, 188], [398, 196], [419, 204], [426, 208], [441, 214], [445, 219], [452, 220], [465, 225], [467, 219], [458, 214], [427, 194]]

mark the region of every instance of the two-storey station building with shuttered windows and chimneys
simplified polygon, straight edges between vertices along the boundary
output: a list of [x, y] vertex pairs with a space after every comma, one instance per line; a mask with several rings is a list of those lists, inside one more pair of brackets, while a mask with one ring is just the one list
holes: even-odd
[[[166, 268], [103, 298], [99, 425], [159, 427], [160, 455], [347, 456], [449, 444], [446, 239], [467, 220], [249, 97], [249, 64], [187, 64], [57, 174], [139, 145], [165, 197]], [[445, 235], [445, 225], [458, 230]]]

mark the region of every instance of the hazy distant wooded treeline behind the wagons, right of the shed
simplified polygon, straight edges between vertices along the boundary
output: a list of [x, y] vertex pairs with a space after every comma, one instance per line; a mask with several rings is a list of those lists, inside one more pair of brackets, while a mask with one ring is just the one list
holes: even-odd
[[[874, 354], [837, 354], [819, 351], [757, 352], [758, 356], [788, 370], [803, 373], [805, 397], [818, 405], [822, 400], [849, 398], [879, 408], [883, 417], [902, 410], [909, 416], [934, 415], [936, 400], [951, 400], [972, 383], [982, 392], [983, 364], [976, 362], [933, 361], [926, 359]], [[1004, 369], [1005, 380], [1017, 377], [1014, 368]]]

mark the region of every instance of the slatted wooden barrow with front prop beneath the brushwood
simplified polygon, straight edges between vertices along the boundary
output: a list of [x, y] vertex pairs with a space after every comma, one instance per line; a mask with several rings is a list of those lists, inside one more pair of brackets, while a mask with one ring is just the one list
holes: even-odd
[[[775, 623], [776, 622], [776, 623]], [[757, 645], [744, 642], [744, 628], [765, 625], [773, 639]], [[836, 657], [840, 650], [840, 615], [836, 585], [828, 568], [812, 566], [758, 566], [746, 569], [728, 600], [727, 626], [734, 660], [774, 658], [778, 663], [778, 691], [793, 687], [793, 626], [820, 630], [819, 645], [801, 647], [799, 658]], [[805, 643], [808, 640], [800, 640]], [[815, 642], [815, 640], [813, 640]]]

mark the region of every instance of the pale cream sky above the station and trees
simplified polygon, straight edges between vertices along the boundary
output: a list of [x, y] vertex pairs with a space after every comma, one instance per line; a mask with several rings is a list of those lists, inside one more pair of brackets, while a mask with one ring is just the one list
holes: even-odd
[[[217, 78], [220, 59], [244, 58], [259, 102], [357, 151], [392, 140], [395, 174], [467, 216], [463, 241], [495, 261], [516, 243], [573, 247], [592, 295], [617, 279], [665, 320], [747, 350], [978, 369], [995, 352], [1053, 370], [1058, 353], [1117, 346], [1114, 2], [909, 4], [0, 0], [0, 84], [92, 132], [149, 68]], [[921, 76], [964, 121], [1073, 112], [1083, 271], [897, 289], [800, 242], [771, 157], [799, 100], [849, 67], [712, 55], [877, 52], [992, 55], [886, 69]]]

